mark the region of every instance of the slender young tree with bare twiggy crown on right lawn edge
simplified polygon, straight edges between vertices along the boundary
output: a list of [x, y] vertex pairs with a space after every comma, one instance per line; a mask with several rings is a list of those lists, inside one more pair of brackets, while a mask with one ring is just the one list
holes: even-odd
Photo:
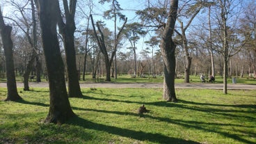
[[[235, 26], [229, 26], [229, 22], [232, 21], [231, 24], [236, 24], [238, 15], [234, 19], [232, 18], [232, 10], [238, 4], [235, 4], [233, 0], [218, 0], [217, 1], [217, 10], [216, 14], [219, 15], [217, 17], [218, 24], [220, 26], [220, 40], [221, 40], [221, 49], [219, 52], [223, 55], [223, 93], [227, 94], [227, 77], [228, 77], [228, 62], [230, 61], [230, 57], [237, 54], [244, 43], [239, 42], [240, 45], [237, 45], [238, 37], [234, 35], [235, 31], [237, 31]], [[239, 1], [237, 1], [239, 3]], [[219, 8], [219, 9], [218, 9]], [[238, 8], [238, 7], [237, 7]], [[220, 13], [218, 13], [220, 11]], [[234, 48], [238, 49], [234, 49]]]

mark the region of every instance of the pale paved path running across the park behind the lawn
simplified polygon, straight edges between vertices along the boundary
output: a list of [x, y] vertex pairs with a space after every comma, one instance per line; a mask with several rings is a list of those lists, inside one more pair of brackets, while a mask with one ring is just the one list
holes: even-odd
[[[47, 82], [30, 82], [31, 88], [47, 88]], [[81, 88], [163, 88], [163, 83], [80, 83]], [[6, 88], [6, 83], [0, 83], [0, 87]], [[18, 88], [23, 88], [23, 83], [17, 83]], [[222, 83], [175, 83], [175, 88], [196, 88], [196, 89], [223, 89]], [[227, 84], [229, 90], [256, 90], [252, 84]]]

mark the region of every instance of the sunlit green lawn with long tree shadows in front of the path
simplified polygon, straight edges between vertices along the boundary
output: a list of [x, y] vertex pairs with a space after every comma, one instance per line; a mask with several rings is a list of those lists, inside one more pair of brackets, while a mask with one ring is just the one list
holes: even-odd
[[[48, 89], [19, 89], [22, 101], [0, 102], [0, 143], [256, 143], [256, 90], [177, 89], [178, 103], [164, 102], [161, 88], [82, 92], [70, 98], [76, 118], [46, 125]], [[142, 104], [150, 113], [140, 117]]]

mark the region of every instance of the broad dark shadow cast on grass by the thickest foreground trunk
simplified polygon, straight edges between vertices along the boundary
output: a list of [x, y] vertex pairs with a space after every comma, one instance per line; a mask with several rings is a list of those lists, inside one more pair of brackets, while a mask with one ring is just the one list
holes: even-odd
[[102, 125], [95, 122], [90, 122], [88, 120], [84, 120], [83, 118], [79, 118], [78, 116], [72, 118], [67, 122], [70, 125], [77, 125], [83, 127], [85, 129], [93, 129], [97, 131], [104, 131], [109, 134], [115, 134], [117, 136], [124, 136], [127, 138], [133, 138], [138, 141], [150, 141], [152, 143], [189, 143], [196, 144], [198, 142], [195, 141], [186, 141], [180, 138], [172, 138], [169, 136], [163, 136], [162, 134], [152, 134], [145, 131], [134, 131], [131, 129], [123, 129], [120, 127], [113, 127], [109, 125]]

